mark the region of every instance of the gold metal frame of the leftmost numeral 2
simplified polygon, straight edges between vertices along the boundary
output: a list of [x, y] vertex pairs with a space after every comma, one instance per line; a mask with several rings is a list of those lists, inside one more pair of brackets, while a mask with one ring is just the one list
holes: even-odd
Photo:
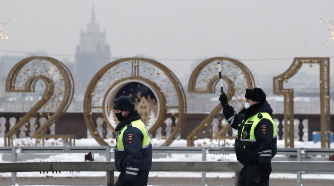
[[[64, 87], [63, 87], [63, 98], [62, 101], [59, 102], [59, 107], [57, 110], [52, 114], [49, 115], [45, 123], [36, 129], [36, 131], [30, 136], [32, 138], [57, 138], [57, 137], [63, 137], [63, 138], [73, 138], [73, 135], [45, 135], [43, 132], [45, 129], [49, 128], [58, 118], [60, 118], [63, 113], [68, 108], [74, 92], [74, 83], [73, 78], [69, 70], [66, 68], [64, 64], [62, 64], [60, 61], [49, 58], [49, 57], [30, 57], [25, 58], [18, 62], [12, 70], [9, 72], [7, 80], [6, 80], [6, 92], [34, 92], [35, 83], [38, 80], [42, 80], [45, 83], [45, 92], [42, 96], [42, 99], [39, 100], [30, 110], [28, 113], [26, 113], [22, 119], [20, 119], [4, 136], [5, 139], [5, 146], [13, 145], [12, 139], [13, 135], [23, 126], [24, 123], [28, 122], [31, 117], [36, 115], [38, 113], [38, 110], [41, 109], [51, 98], [51, 96], [55, 95], [54, 91], [58, 91], [58, 89], [54, 88], [54, 81], [51, 79], [52, 77], [49, 75], [49, 77], [46, 77], [45, 74], [42, 75], [35, 75], [29, 77], [29, 79], [22, 84], [24, 85], [24, 89], [19, 88], [18, 80], [22, 78], [22, 75], [20, 74], [22, 71], [26, 70], [29, 71], [29, 68], [26, 66], [29, 64], [29, 62], [32, 62], [34, 60], [40, 60], [44, 61], [43, 63], [46, 64], [46, 62], [52, 64], [54, 68], [59, 71], [59, 74], [62, 76], [62, 81], [64, 81]], [[26, 69], [24, 69], [26, 67]], [[41, 69], [35, 69], [35, 71], [41, 70]], [[23, 72], [23, 74], [26, 74]], [[60, 87], [59, 87], [60, 88]], [[61, 88], [60, 88], [61, 89]]]

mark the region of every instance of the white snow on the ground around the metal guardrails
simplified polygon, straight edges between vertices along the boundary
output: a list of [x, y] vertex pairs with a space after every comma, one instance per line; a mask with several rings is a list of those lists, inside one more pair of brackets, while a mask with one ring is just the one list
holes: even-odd
[[[46, 144], [56, 144], [56, 140], [52, 141], [54, 139], [48, 140]], [[3, 138], [0, 138], [0, 146], [3, 146]], [[115, 139], [109, 139], [109, 142], [114, 141]], [[162, 140], [158, 139], [152, 139], [153, 145], [159, 145], [162, 144]], [[58, 146], [62, 146], [61, 142], [57, 142]], [[98, 146], [98, 143], [95, 141], [95, 139], [76, 139], [75, 141], [76, 146]], [[175, 140], [170, 146], [171, 147], [186, 147], [186, 140], [179, 139]], [[227, 139], [226, 141], [220, 141], [217, 140], [210, 140], [210, 139], [199, 139], [195, 141], [195, 146], [201, 146], [201, 147], [219, 147], [224, 144], [225, 147], [233, 147], [234, 140]], [[313, 142], [299, 142], [295, 141], [295, 148], [320, 148], [321, 144], [320, 142], [314, 144]], [[331, 146], [334, 146], [332, 143]], [[278, 148], [284, 148], [284, 141], [278, 140], [277, 143]], [[277, 155], [279, 156], [279, 155]], [[282, 155], [281, 155], [282, 156]], [[105, 161], [106, 157], [95, 154], [95, 161]], [[113, 158], [113, 157], [112, 157]], [[0, 154], [0, 160], [2, 160], [2, 154]], [[57, 154], [57, 155], [51, 155], [49, 158], [46, 159], [30, 159], [26, 162], [40, 162], [40, 161], [83, 161], [84, 155], [83, 154]], [[202, 155], [201, 154], [171, 154], [166, 155], [164, 158], [155, 158], [153, 161], [201, 161]], [[223, 155], [223, 154], [207, 154], [206, 155], [207, 161], [236, 161], [235, 154], [229, 154], [229, 155]], [[114, 161], [114, 159], [111, 159], [111, 161]], [[4, 162], [4, 161], [2, 161]], [[53, 176], [53, 177], [87, 177], [87, 176], [105, 176], [105, 172], [61, 172], [61, 174], [52, 174], [52, 173], [45, 173], [40, 174], [39, 172], [20, 172], [17, 173], [18, 177], [45, 177], [45, 176]], [[119, 175], [118, 172], [115, 172], [115, 178], [117, 178]], [[0, 177], [10, 177], [11, 173], [0, 173]], [[150, 177], [201, 177], [201, 173], [193, 173], [193, 172], [150, 172]], [[220, 173], [206, 173], [206, 177], [211, 178], [232, 178], [234, 177], [234, 172], [228, 173], [228, 172], [220, 172]], [[273, 173], [271, 174], [271, 178], [297, 178], [297, 174], [291, 173], [291, 174], [285, 174], [285, 173]], [[303, 174], [302, 178], [307, 179], [334, 179], [333, 175], [328, 174]]]

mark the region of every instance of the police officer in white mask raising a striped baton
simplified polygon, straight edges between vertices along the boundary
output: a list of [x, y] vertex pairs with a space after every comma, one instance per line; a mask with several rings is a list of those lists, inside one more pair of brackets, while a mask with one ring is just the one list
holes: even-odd
[[228, 105], [225, 93], [219, 97], [227, 122], [237, 130], [234, 149], [237, 160], [243, 164], [238, 186], [268, 186], [271, 159], [277, 153], [273, 109], [261, 88], [246, 89], [245, 98], [244, 108], [236, 113]]

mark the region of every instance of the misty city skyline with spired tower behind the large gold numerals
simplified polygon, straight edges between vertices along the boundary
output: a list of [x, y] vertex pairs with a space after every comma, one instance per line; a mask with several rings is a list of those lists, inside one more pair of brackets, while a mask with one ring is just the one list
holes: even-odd
[[[74, 61], [72, 58], [64, 58], [63, 56], [57, 56], [61, 58], [61, 62], [71, 72], [74, 84], [75, 92], [72, 103], [67, 109], [67, 112], [82, 112], [83, 99], [86, 92], [86, 88], [93, 76], [105, 65], [112, 62], [115, 59], [121, 57], [113, 57], [113, 51], [107, 41], [108, 30], [100, 29], [99, 21], [96, 18], [96, 10], [94, 7], [91, 9], [91, 17], [87, 20], [87, 27], [77, 31], [79, 35], [79, 43], [75, 47]], [[3, 87], [0, 92], [0, 110], [5, 112], [26, 112], [28, 111], [41, 97], [36, 93], [6, 93], [4, 91], [5, 82], [9, 71], [14, 67], [20, 60], [30, 56], [50, 56], [48, 51], [36, 51], [35, 53], [26, 53], [17, 55], [17, 53], [1, 54], [0, 69], [1, 81], [0, 85]], [[137, 57], [146, 57], [145, 55], [137, 55]], [[146, 57], [150, 58], [150, 57]], [[154, 60], [154, 58], [153, 58]], [[205, 59], [203, 59], [205, 60]], [[188, 113], [208, 113], [218, 104], [218, 95], [215, 94], [193, 94], [187, 92], [189, 76], [192, 70], [201, 62], [201, 59], [193, 62], [185, 62], [184, 66], [188, 66], [188, 72], [183, 72], [183, 76], [179, 77], [179, 80], [186, 93], [187, 99], [187, 112]], [[242, 62], [242, 61], [241, 61]], [[168, 62], [162, 62], [168, 67]], [[254, 67], [249, 67], [252, 69]], [[308, 67], [311, 68], [311, 67]], [[318, 72], [318, 67], [312, 67]], [[283, 72], [282, 72], [283, 73]], [[320, 90], [319, 90], [319, 75], [317, 73], [309, 74], [307, 72], [299, 72], [287, 83], [288, 88], [294, 89], [295, 96], [295, 113], [320, 113]], [[277, 74], [276, 74], [277, 75]], [[256, 80], [256, 86], [261, 87], [267, 94], [267, 100], [272, 105], [274, 113], [283, 113], [283, 96], [273, 94], [273, 75], [253, 73], [254, 79]], [[333, 77], [333, 76], [332, 76]], [[331, 83], [332, 84], [332, 83]], [[219, 87], [216, 87], [217, 91]], [[333, 113], [334, 104], [333, 93], [334, 86], [331, 86], [331, 113]]]

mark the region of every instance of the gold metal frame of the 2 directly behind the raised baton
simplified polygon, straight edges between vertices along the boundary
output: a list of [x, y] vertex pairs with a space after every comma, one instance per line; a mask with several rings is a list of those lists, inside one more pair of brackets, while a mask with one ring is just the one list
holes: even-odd
[[[252, 73], [249, 71], [249, 69], [243, 65], [241, 62], [231, 59], [231, 58], [223, 58], [223, 57], [215, 57], [210, 58], [202, 63], [200, 63], [195, 70], [192, 72], [189, 84], [188, 84], [188, 92], [189, 93], [215, 93], [215, 86], [219, 81], [218, 77], [218, 65], [217, 62], [220, 62], [222, 64], [222, 79], [227, 83], [228, 85], [228, 91], [226, 93], [227, 99], [231, 100], [231, 98], [235, 95], [236, 91], [238, 94], [244, 93], [244, 90], [246, 88], [253, 88], [255, 86], [255, 81], [253, 78]], [[241, 84], [235, 84], [234, 81], [239, 78], [237, 74], [234, 73], [234, 71], [226, 71], [224, 69], [225, 62], [227, 63], [226, 66], [230, 67], [231, 65], [234, 65], [235, 68], [241, 71], [240, 75], [243, 75], [246, 83], [245, 85]], [[227, 74], [230, 73], [230, 74]], [[202, 79], [200, 79], [200, 76], [204, 76]], [[229, 77], [232, 77], [231, 79]], [[243, 79], [242, 79], [243, 80]], [[199, 83], [201, 81], [207, 82], [204, 83], [205, 86], [199, 87]], [[240, 86], [241, 85], [241, 86]], [[238, 90], [236, 90], [238, 89]], [[225, 89], [226, 91], [226, 89]], [[243, 97], [243, 95], [242, 95]], [[242, 98], [237, 99], [238, 102], [230, 102], [230, 105], [236, 106], [239, 104], [239, 102], [244, 102]], [[243, 108], [243, 107], [242, 107]], [[219, 111], [222, 109], [221, 105], [218, 104], [208, 116], [206, 116], [187, 136], [187, 146], [194, 146], [194, 140], [197, 138], [197, 133], [200, 132], [204, 127], [206, 127], [210, 123], [217, 114], [219, 114]], [[241, 108], [239, 108], [240, 110]], [[229, 125], [223, 126], [213, 138], [231, 138], [229, 136], [226, 136], [226, 131], [230, 129]], [[234, 138], [234, 136], [233, 136]]]

